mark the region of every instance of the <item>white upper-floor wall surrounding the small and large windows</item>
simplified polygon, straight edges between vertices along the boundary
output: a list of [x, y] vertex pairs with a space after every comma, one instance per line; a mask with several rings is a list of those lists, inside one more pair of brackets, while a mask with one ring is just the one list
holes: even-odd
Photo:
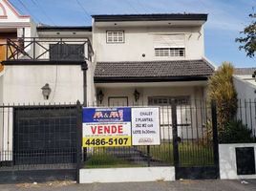
[[[124, 31], [124, 43], [106, 42], [106, 31]], [[154, 34], [185, 35], [185, 56], [155, 56]], [[204, 55], [203, 27], [111, 27], [93, 28], [96, 61], [154, 61], [202, 59]], [[145, 57], [142, 56], [145, 53]]]

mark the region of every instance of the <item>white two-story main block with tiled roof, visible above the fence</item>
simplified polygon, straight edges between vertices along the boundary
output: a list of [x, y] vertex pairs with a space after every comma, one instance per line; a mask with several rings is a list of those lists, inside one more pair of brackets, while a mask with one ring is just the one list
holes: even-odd
[[168, 105], [205, 98], [207, 14], [93, 15], [99, 105]]

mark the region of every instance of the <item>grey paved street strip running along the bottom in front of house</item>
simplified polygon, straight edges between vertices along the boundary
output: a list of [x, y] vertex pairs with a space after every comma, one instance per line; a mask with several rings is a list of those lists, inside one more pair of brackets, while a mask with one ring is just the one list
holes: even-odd
[[1, 184], [1, 191], [249, 191], [256, 190], [256, 180], [178, 180], [131, 183], [76, 184], [73, 181]]

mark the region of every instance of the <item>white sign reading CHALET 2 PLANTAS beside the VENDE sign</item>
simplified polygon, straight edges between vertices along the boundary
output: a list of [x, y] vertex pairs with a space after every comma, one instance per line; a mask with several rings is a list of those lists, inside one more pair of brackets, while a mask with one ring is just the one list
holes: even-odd
[[132, 108], [132, 145], [160, 145], [160, 108]]

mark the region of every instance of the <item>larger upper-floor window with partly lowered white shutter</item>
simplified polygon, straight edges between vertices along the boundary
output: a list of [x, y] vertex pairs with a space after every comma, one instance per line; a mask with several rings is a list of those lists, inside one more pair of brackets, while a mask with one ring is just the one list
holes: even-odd
[[155, 56], [185, 56], [184, 34], [156, 34], [154, 36]]

